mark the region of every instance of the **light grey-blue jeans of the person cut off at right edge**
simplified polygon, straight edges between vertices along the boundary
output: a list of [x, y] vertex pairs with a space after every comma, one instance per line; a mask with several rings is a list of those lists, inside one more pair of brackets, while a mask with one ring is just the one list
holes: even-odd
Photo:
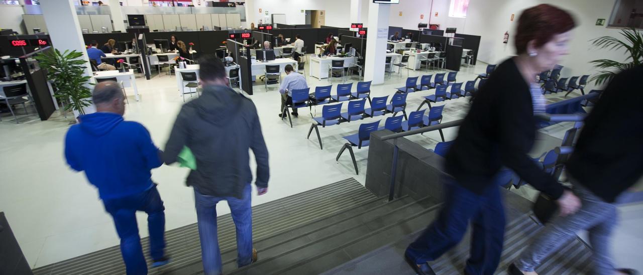
[[592, 191], [571, 179], [574, 193], [581, 199], [581, 209], [567, 217], [553, 218], [543, 231], [536, 235], [527, 249], [520, 254], [516, 267], [521, 271], [534, 271], [541, 261], [556, 252], [578, 231], [587, 230], [592, 245], [593, 274], [613, 274], [610, 238], [618, 220], [614, 204], [605, 202]]

